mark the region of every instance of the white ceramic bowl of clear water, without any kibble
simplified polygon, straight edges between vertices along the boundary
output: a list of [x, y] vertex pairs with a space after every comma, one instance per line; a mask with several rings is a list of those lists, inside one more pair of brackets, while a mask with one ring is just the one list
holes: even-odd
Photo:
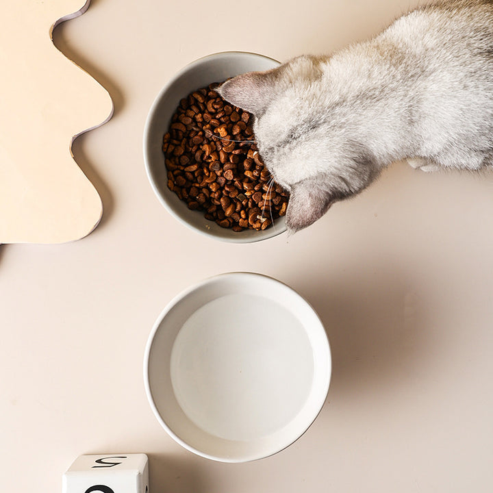
[[281, 451], [325, 402], [331, 355], [314, 309], [294, 290], [253, 273], [192, 286], [149, 336], [144, 383], [162, 427], [221, 462]]

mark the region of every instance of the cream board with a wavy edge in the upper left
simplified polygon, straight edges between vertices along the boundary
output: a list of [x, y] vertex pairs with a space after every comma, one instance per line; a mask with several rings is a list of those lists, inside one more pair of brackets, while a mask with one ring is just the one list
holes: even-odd
[[4, 2], [0, 29], [0, 243], [83, 238], [101, 219], [99, 194], [73, 138], [108, 121], [108, 92], [53, 45], [55, 25], [89, 0]]

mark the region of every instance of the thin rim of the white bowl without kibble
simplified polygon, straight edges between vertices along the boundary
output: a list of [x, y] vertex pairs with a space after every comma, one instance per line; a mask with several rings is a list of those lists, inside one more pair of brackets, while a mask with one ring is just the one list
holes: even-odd
[[[326, 379], [324, 382], [324, 385], [320, 385], [320, 389], [318, 390], [318, 401], [316, 405], [316, 412], [314, 413], [313, 416], [311, 416], [311, 419], [305, 423], [305, 428], [303, 431], [296, 436], [295, 438], [292, 438], [289, 440], [288, 443], [284, 443], [279, 445], [277, 448], [273, 449], [272, 451], [269, 451], [269, 453], [266, 454], [255, 454], [255, 455], [248, 455], [248, 456], [242, 456], [242, 457], [225, 457], [221, 455], [213, 455], [207, 452], [203, 452], [199, 450], [198, 448], [188, 444], [185, 440], [179, 437], [173, 429], [171, 429], [166, 421], [164, 420], [163, 416], [160, 414], [159, 409], [157, 409], [157, 405], [154, 401], [153, 398], [153, 393], [151, 392], [151, 383], [150, 383], [150, 377], [149, 377], [149, 362], [150, 362], [150, 357], [151, 357], [151, 348], [156, 336], [157, 331], [160, 329], [160, 325], [162, 324], [164, 318], [166, 318], [166, 315], [168, 312], [170, 312], [171, 309], [173, 309], [178, 303], [181, 302], [182, 299], [185, 299], [190, 293], [200, 290], [207, 286], [207, 284], [214, 283], [214, 281], [217, 281], [220, 278], [226, 279], [227, 277], [255, 277], [257, 279], [262, 279], [262, 281], [266, 282], [271, 282], [271, 283], [277, 283], [281, 285], [284, 289], [289, 290], [293, 294], [299, 297], [303, 303], [307, 305], [309, 309], [311, 309], [312, 313], [314, 314], [316, 320], [318, 320], [318, 324], [320, 329], [322, 329], [323, 333], [323, 344], [324, 344], [324, 351], [327, 353], [327, 375]], [[143, 360], [143, 370], [144, 370], [144, 390], [147, 396], [147, 400], [149, 402], [149, 405], [151, 406], [151, 409], [153, 411], [153, 414], [155, 418], [157, 418], [157, 421], [160, 423], [162, 428], [168, 433], [168, 435], [177, 442], [177, 444], [181, 445], [182, 447], [186, 448], [186, 450], [199, 455], [201, 457], [204, 457], [206, 459], [211, 459], [216, 462], [227, 462], [227, 463], [244, 463], [244, 462], [253, 462], [256, 460], [264, 459], [266, 457], [270, 457], [272, 455], [275, 455], [284, 449], [288, 448], [288, 446], [294, 444], [297, 440], [299, 440], [305, 433], [306, 431], [313, 425], [314, 421], [322, 411], [325, 402], [327, 401], [327, 396], [329, 393], [329, 387], [331, 383], [331, 376], [332, 376], [332, 355], [331, 355], [331, 347], [330, 347], [330, 342], [329, 338], [327, 336], [327, 331], [325, 330], [325, 326], [323, 325], [322, 320], [320, 319], [320, 316], [314, 309], [314, 307], [305, 299], [304, 296], [301, 296], [299, 292], [291, 288], [291, 286], [288, 286], [288, 284], [283, 283], [283, 281], [279, 281], [279, 279], [275, 279], [275, 277], [270, 277], [265, 274], [260, 274], [260, 273], [253, 273], [253, 272], [247, 272], [247, 271], [236, 271], [236, 272], [229, 272], [229, 273], [221, 273], [217, 275], [213, 275], [210, 277], [207, 277], [201, 281], [198, 281], [197, 283], [192, 284], [192, 286], [189, 286], [188, 288], [182, 290], [179, 292], [177, 295], [171, 299], [164, 309], [162, 309], [162, 312], [160, 313], [159, 316], [157, 316], [155, 323], [151, 329], [151, 332], [149, 333], [149, 336], [147, 338], [147, 343], [144, 349], [144, 360]]]

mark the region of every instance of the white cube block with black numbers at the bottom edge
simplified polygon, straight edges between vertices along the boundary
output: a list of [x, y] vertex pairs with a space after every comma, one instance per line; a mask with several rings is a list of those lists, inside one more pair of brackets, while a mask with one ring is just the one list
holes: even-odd
[[81, 455], [63, 475], [63, 493], [149, 493], [145, 454]]

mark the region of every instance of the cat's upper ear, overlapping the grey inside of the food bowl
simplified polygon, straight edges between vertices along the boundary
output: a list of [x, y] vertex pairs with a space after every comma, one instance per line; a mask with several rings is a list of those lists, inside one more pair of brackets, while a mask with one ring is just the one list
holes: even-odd
[[229, 103], [258, 116], [273, 97], [277, 69], [249, 72], [225, 81], [216, 90]]

